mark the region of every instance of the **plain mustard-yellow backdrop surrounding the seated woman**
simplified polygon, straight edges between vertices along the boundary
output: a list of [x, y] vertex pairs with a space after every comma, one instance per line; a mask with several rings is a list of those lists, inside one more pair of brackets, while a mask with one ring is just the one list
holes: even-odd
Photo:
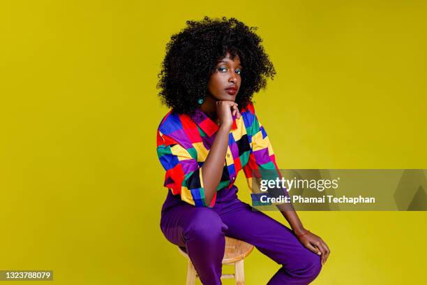
[[[2, 1], [0, 270], [183, 284], [158, 226], [156, 82], [170, 36], [204, 15], [260, 28], [277, 76], [255, 108], [280, 168], [427, 168], [425, 1]], [[313, 284], [427, 282], [426, 212], [299, 216], [331, 248]], [[255, 250], [246, 284], [278, 268]]]

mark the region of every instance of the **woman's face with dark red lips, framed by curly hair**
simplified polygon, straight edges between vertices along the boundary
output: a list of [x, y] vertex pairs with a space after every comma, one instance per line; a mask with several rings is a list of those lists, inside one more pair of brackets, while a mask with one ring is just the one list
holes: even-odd
[[241, 84], [241, 64], [236, 54], [234, 60], [230, 53], [218, 61], [215, 72], [208, 81], [208, 92], [216, 101], [236, 101]]

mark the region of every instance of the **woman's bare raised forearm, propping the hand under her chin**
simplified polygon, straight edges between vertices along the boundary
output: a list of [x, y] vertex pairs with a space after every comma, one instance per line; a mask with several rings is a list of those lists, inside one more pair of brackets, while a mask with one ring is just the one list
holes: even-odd
[[213, 140], [211, 149], [209, 149], [207, 159], [204, 161], [201, 169], [206, 205], [211, 203], [213, 194], [216, 192], [216, 188], [223, 175], [229, 133], [230, 128], [227, 129], [227, 127], [220, 126], [216, 132], [216, 137]]

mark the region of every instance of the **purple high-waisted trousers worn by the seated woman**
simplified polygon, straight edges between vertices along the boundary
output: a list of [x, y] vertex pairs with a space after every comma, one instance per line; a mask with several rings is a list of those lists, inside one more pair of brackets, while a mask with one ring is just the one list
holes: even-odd
[[213, 208], [195, 207], [169, 191], [160, 228], [183, 248], [204, 285], [221, 284], [225, 235], [253, 244], [282, 265], [267, 285], [309, 284], [322, 269], [320, 256], [306, 249], [283, 224], [237, 198], [237, 187], [217, 192]]

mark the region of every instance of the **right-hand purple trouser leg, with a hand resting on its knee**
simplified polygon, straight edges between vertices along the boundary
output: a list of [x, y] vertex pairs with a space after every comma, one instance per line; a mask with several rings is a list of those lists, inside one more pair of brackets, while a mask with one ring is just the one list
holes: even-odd
[[227, 225], [225, 235], [244, 240], [282, 265], [268, 285], [309, 284], [322, 269], [321, 258], [304, 247], [285, 225], [263, 212], [253, 211], [241, 200], [233, 200], [221, 209]]

